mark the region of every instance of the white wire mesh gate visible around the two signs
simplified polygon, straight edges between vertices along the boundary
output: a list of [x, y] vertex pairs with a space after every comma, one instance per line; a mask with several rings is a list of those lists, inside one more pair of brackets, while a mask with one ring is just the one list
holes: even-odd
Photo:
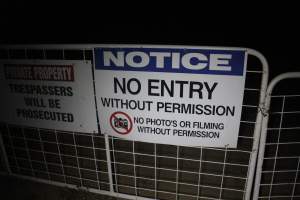
[[[0, 59], [93, 60], [98, 45], [10, 46]], [[248, 54], [238, 147], [182, 147], [1, 124], [10, 175], [128, 199], [249, 199], [268, 65]], [[4, 159], [5, 160], [5, 159]]]

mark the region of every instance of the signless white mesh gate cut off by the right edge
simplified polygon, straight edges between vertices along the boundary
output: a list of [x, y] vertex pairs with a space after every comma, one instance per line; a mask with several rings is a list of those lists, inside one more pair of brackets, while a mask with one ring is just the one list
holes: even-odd
[[299, 78], [285, 73], [268, 86], [253, 199], [300, 199]]

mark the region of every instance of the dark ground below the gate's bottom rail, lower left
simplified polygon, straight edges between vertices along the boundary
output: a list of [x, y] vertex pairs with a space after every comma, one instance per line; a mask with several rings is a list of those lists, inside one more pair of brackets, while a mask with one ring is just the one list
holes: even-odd
[[121, 200], [2, 175], [0, 185], [0, 199], [3, 200]]

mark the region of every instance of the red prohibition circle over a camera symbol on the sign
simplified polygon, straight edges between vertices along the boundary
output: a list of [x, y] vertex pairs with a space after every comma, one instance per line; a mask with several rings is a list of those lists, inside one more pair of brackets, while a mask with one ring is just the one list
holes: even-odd
[[110, 126], [121, 135], [127, 135], [132, 130], [132, 120], [124, 112], [114, 112], [109, 119]]

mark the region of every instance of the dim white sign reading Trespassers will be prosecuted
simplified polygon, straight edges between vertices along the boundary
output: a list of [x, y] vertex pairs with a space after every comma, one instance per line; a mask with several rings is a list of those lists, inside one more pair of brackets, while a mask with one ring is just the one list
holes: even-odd
[[98, 132], [91, 61], [1, 61], [0, 121]]

